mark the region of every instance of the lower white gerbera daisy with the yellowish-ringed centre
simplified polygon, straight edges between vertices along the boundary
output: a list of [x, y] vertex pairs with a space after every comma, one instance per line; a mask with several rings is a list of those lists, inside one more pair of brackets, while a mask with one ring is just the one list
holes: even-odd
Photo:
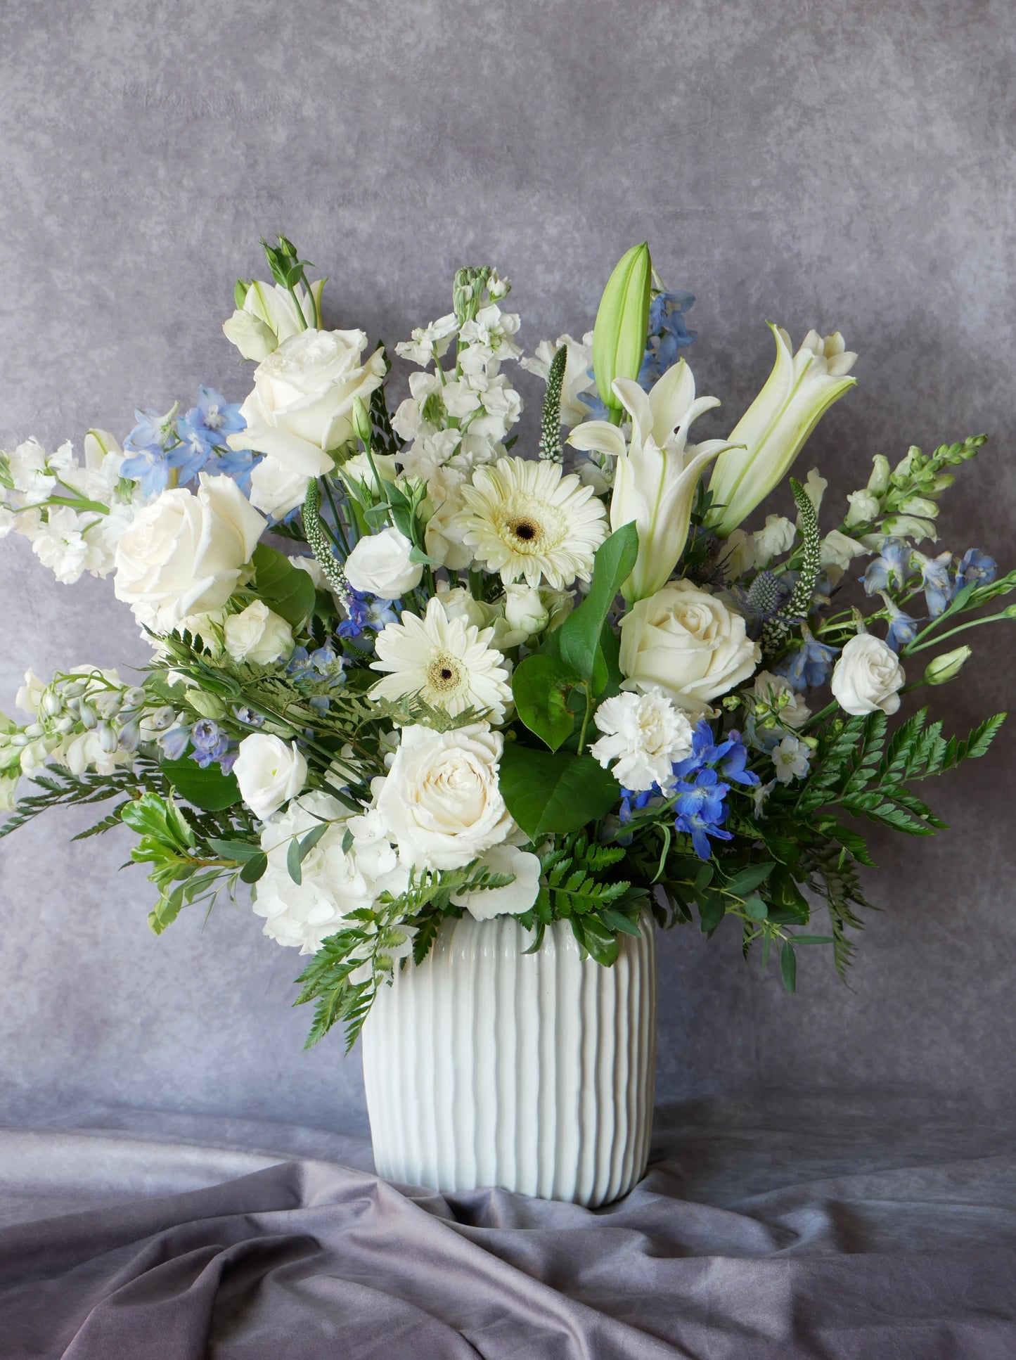
[[484, 709], [502, 722], [511, 699], [505, 657], [490, 646], [492, 628], [480, 631], [464, 617], [449, 619], [441, 600], [431, 598], [423, 619], [408, 611], [401, 623], [378, 634], [373, 670], [388, 670], [374, 685], [384, 699], [418, 694], [424, 703], [450, 714]]

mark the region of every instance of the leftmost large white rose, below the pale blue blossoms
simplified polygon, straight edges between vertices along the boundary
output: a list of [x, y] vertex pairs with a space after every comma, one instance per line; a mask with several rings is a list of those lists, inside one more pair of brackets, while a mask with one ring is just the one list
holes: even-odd
[[158, 632], [226, 604], [265, 526], [230, 477], [199, 480], [196, 495], [163, 491], [117, 544], [114, 594]]

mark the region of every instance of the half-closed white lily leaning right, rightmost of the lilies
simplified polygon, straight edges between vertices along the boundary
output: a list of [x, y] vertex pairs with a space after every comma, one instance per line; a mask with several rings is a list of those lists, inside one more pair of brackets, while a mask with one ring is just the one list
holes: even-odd
[[[823, 413], [854, 386], [856, 354], [839, 330], [809, 330], [793, 354], [790, 336], [770, 322], [777, 362], [766, 386], [730, 432], [730, 447], [713, 468], [710, 528], [726, 537], [782, 481]], [[740, 445], [740, 447], [737, 447]]]

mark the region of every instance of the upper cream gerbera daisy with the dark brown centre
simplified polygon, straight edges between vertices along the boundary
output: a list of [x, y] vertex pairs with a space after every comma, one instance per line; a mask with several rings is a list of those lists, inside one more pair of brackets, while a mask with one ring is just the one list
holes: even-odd
[[592, 487], [556, 462], [498, 458], [461, 490], [456, 520], [462, 540], [505, 585], [525, 577], [560, 590], [589, 581], [593, 554], [607, 537], [607, 511]]

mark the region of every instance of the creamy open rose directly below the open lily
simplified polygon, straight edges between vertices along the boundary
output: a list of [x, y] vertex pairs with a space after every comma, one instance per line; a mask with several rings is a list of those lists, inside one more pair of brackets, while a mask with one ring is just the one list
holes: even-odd
[[747, 680], [762, 660], [741, 615], [690, 581], [639, 600], [620, 628], [624, 688], [646, 694], [658, 685], [692, 717]]

